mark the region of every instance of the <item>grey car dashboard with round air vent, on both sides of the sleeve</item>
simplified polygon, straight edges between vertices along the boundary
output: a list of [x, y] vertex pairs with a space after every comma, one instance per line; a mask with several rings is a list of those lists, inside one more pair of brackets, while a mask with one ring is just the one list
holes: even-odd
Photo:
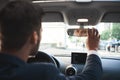
[[[66, 76], [77, 75], [82, 72], [84, 63], [71, 64], [71, 57], [55, 56], [57, 63], [59, 63], [59, 70]], [[120, 59], [101, 58], [103, 67], [102, 80], [120, 80]]]

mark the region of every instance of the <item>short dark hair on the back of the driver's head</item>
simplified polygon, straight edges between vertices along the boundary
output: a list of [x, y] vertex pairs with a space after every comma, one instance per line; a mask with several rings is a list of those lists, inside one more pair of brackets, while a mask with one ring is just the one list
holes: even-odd
[[11, 1], [0, 11], [3, 49], [20, 49], [34, 30], [40, 31], [43, 10], [27, 1]]

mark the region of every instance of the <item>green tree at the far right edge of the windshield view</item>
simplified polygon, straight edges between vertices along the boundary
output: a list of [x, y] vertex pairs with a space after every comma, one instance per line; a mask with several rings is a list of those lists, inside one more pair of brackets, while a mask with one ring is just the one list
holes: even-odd
[[120, 40], [120, 23], [113, 23], [111, 33], [112, 37]]

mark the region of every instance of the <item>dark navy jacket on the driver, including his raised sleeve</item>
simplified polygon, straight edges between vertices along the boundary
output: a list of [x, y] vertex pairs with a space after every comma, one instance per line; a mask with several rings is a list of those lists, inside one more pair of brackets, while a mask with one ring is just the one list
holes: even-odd
[[0, 53], [0, 80], [99, 80], [101, 75], [101, 61], [94, 54], [87, 58], [81, 74], [65, 77], [53, 64], [28, 64], [15, 56]]

